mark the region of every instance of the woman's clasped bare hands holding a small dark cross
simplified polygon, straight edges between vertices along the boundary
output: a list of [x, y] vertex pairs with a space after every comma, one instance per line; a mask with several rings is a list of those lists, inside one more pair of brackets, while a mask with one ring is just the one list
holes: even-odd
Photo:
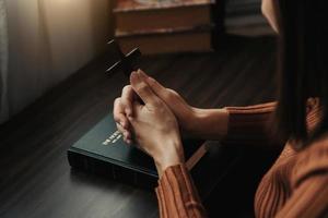
[[114, 102], [114, 119], [125, 142], [150, 155], [160, 175], [167, 167], [184, 162], [179, 124], [167, 101], [184, 114], [180, 119], [192, 112], [174, 90], [138, 70]]

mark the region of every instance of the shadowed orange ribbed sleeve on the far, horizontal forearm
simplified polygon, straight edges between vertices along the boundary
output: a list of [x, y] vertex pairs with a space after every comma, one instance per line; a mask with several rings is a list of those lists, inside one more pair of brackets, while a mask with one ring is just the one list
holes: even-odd
[[276, 105], [276, 102], [268, 102], [248, 107], [226, 107], [229, 128], [222, 144], [277, 144], [270, 131]]

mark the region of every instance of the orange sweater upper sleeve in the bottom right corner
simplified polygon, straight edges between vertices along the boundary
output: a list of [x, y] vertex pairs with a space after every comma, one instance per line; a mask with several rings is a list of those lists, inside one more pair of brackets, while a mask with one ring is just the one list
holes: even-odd
[[291, 173], [292, 193], [277, 218], [328, 217], [328, 142], [308, 148]]

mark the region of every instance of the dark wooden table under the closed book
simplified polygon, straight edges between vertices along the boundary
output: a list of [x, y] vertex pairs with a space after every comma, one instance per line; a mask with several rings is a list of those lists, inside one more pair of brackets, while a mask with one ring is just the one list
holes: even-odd
[[[274, 99], [276, 40], [227, 37], [220, 51], [144, 57], [142, 69], [194, 106]], [[0, 126], [0, 217], [157, 217], [152, 191], [72, 171], [66, 152], [112, 110], [127, 83], [99, 57]]]

